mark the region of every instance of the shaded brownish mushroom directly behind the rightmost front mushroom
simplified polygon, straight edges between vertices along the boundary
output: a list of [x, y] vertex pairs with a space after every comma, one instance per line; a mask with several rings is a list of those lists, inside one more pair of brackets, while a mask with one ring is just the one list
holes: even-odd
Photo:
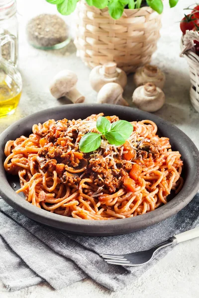
[[134, 74], [133, 79], [136, 86], [141, 86], [146, 83], [153, 83], [162, 89], [165, 84], [165, 74], [156, 66], [149, 64], [139, 68]]

